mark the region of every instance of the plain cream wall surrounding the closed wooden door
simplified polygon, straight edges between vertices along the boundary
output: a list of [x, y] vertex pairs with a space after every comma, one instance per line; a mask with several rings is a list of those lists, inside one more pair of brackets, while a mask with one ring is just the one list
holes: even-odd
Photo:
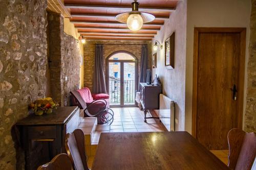
[[[192, 128], [192, 92], [193, 92], [193, 48], [194, 27], [243, 27], [246, 28], [246, 59], [244, 86], [244, 113], [247, 88], [247, 62], [250, 34], [250, 0], [188, 0], [186, 34], [186, 88], [185, 88], [185, 130]], [[244, 122], [244, 121], [243, 121]], [[243, 125], [244, 127], [244, 125]]]

